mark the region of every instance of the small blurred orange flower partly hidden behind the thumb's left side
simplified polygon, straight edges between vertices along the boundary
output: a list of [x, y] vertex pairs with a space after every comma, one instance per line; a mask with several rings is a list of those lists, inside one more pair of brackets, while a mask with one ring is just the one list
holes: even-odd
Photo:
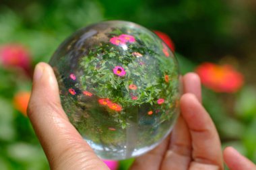
[[13, 98], [14, 108], [27, 116], [28, 101], [30, 100], [30, 92], [20, 91]]

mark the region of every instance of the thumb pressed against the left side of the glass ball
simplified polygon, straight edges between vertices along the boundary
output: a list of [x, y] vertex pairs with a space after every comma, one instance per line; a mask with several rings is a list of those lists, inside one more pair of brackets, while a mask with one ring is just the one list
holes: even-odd
[[43, 62], [34, 71], [28, 118], [51, 169], [108, 169], [69, 122], [53, 69]]

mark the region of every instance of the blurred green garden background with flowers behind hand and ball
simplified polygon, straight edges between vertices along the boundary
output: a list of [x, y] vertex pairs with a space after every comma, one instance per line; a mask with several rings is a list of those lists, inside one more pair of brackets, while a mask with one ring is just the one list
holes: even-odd
[[[106, 19], [158, 31], [181, 73], [201, 77], [203, 104], [223, 147], [256, 163], [255, 0], [1, 0], [1, 170], [49, 169], [26, 117], [34, 66], [48, 62], [75, 30]], [[132, 161], [120, 161], [118, 169]]]

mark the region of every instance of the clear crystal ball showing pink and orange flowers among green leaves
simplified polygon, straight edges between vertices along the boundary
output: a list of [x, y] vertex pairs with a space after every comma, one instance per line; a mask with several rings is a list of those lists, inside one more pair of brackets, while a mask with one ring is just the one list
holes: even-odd
[[61, 104], [102, 159], [157, 146], [179, 115], [179, 67], [156, 34], [123, 21], [78, 30], [53, 54]]

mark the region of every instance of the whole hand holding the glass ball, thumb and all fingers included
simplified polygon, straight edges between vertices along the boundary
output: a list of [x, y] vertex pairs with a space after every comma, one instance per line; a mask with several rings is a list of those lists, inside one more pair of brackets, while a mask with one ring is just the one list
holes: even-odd
[[[183, 88], [181, 116], [172, 133], [154, 150], [135, 159], [131, 170], [224, 169], [218, 132], [201, 105], [199, 77], [195, 73], [185, 75]], [[43, 62], [34, 72], [28, 117], [51, 169], [108, 169], [69, 122], [61, 107], [53, 69]], [[232, 148], [224, 151], [230, 169], [256, 169], [253, 163], [234, 152]]]

